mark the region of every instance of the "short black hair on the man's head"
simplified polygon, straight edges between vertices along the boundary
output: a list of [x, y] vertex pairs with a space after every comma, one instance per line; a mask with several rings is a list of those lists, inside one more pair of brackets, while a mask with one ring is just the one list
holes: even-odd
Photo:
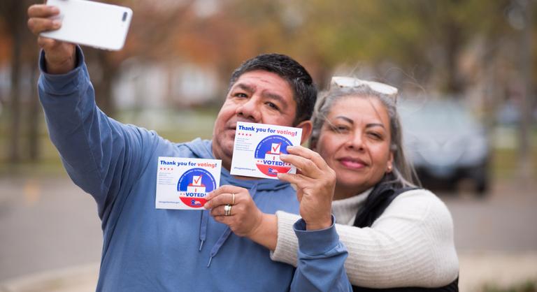
[[287, 81], [296, 101], [294, 125], [310, 119], [317, 99], [317, 88], [313, 84], [310, 73], [299, 62], [285, 54], [259, 54], [245, 61], [231, 75], [228, 91], [241, 75], [256, 70], [278, 74], [280, 78]]

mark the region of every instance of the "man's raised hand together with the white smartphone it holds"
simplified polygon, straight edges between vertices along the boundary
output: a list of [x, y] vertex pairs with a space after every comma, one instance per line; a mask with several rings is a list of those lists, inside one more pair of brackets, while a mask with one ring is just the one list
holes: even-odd
[[[132, 10], [85, 0], [47, 0], [28, 8], [28, 27], [45, 50], [48, 73], [67, 73], [76, 65], [75, 45], [121, 50]], [[55, 41], [54, 41], [55, 40]]]

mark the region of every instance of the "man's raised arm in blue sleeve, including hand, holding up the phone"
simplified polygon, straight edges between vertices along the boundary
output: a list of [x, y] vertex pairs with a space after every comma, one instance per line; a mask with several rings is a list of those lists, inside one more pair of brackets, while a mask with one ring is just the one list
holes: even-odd
[[[52, 6], [31, 6], [28, 26], [37, 35], [57, 29], [60, 24], [48, 17], [58, 13]], [[38, 93], [50, 140], [73, 182], [95, 198], [104, 219], [108, 206], [144, 169], [140, 165], [147, 165], [159, 140], [155, 133], [117, 122], [97, 108], [80, 47], [41, 36], [38, 43], [43, 49]]]

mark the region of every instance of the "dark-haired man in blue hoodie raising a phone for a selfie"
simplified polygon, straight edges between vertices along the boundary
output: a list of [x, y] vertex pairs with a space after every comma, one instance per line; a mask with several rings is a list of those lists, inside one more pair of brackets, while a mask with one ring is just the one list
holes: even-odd
[[[28, 26], [34, 34], [58, 29], [48, 19], [57, 8], [34, 5]], [[96, 107], [94, 90], [76, 45], [43, 37], [39, 97], [50, 138], [73, 182], [96, 200], [103, 229], [103, 254], [97, 291], [296, 291], [346, 288], [344, 270], [319, 280], [315, 260], [345, 261], [334, 233], [317, 244], [296, 269], [270, 260], [268, 250], [210, 217], [206, 211], [155, 208], [157, 158], [222, 159], [221, 184], [248, 189], [266, 213], [298, 212], [292, 187], [278, 180], [252, 180], [229, 174], [237, 122], [296, 126], [302, 140], [316, 89], [308, 72], [293, 59], [264, 54], [246, 61], [231, 76], [213, 140], [171, 143], [153, 131], [121, 124]], [[317, 249], [318, 248], [318, 249]], [[317, 256], [317, 257], [316, 257]], [[326, 262], [325, 262], [326, 265]], [[294, 278], [294, 280], [293, 280]]]

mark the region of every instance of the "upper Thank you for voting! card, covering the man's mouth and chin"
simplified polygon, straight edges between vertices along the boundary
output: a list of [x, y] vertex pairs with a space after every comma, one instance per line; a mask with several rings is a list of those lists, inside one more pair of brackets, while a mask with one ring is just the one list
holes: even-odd
[[300, 145], [302, 129], [238, 122], [235, 131], [231, 175], [277, 179], [278, 173], [296, 173], [280, 160], [287, 147]]

